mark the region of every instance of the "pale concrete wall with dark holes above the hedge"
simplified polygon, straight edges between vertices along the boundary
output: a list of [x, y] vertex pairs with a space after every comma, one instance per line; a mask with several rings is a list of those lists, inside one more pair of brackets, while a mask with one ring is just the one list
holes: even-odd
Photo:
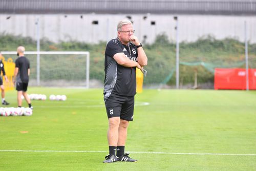
[[[78, 40], [97, 44], [116, 37], [116, 25], [128, 15], [112, 14], [51, 14], [51, 15], [0, 15], [0, 33], [30, 36], [36, 39], [36, 20], [40, 22], [40, 37], [51, 41]], [[129, 15], [134, 23], [135, 35], [152, 43], [156, 35], [165, 33], [170, 41], [176, 41], [174, 15]], [[9, 19], [7, 19], [9, 18]], [[214, 35], [218, 39], [236, 37], [244, 41], [244, 21], [247, 37], [256, 42], [256, 16], [180, 15], [180, 41], [195, 41], [200, 36]], [[98, 21], [98, 25], [92, 24]], [[152, 25], [155, 22], [155, 25]], [[145, 38], [146, 37], [146, 38]]]

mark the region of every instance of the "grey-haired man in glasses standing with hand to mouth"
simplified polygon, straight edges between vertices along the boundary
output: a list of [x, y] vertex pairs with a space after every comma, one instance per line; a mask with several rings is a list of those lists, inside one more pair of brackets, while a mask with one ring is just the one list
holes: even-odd
[[109, 119], [109, 155], [103, 163], [137, 162], [124, 153], [127, 127], [129, 121], [133, 121], [136, 68], [142, 71], [147, 65], [146, 54], [134, 32], [129, 20], [121, 20], [117, 25], [117, 38], [110, 40], [105, 50], [103, 94]]

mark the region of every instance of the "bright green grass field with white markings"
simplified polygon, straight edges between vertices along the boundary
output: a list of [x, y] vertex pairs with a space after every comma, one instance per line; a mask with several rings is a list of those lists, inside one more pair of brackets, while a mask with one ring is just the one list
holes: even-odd
[[[256, 170], [256, 91], [144, 90], [125, 147], [139, 161], [111, 164], [102, 163], [102, 91], [29, 88], [68, 99], [33, 100], [32, 116], [0, 117], [0, 170]], [[17, 106], [15, 91], [6, 99]]]

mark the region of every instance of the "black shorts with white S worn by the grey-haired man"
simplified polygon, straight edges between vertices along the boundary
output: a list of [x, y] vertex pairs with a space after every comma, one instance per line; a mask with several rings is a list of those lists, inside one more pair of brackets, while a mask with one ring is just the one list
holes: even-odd
[[105, 107], [108, 118], [120, 117], [123, 120], [133, 121], [134, 96], [111, 94], [105, 100]]

